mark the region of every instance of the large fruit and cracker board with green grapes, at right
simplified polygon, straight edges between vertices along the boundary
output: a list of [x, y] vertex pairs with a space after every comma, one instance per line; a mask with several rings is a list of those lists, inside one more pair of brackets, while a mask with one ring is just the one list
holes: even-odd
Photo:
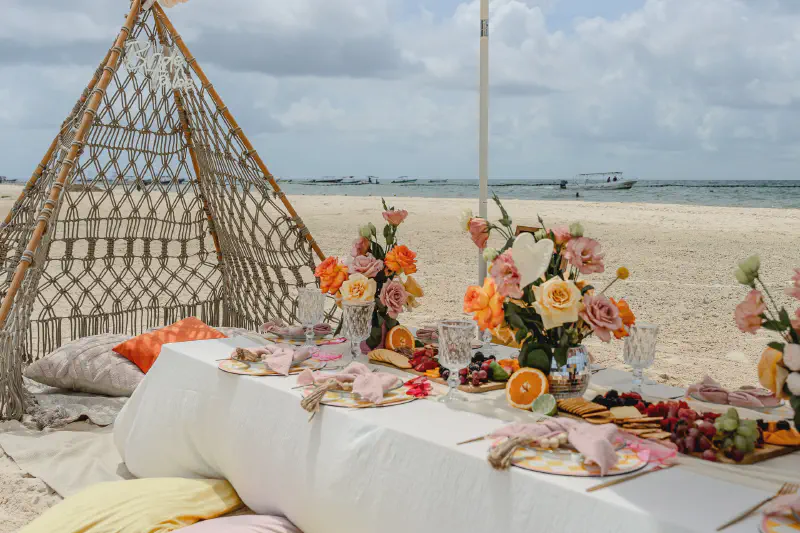
[[800, 450], [800, 433], [789, 422], [698, 412], [684, 401], [650, 403], [635, 392], [610, 390], [592, 401], [559, 400], [559, 411], [594, 424], [614, 423], [623, 431], [652, 439], [707, 461], [753, 464]]

